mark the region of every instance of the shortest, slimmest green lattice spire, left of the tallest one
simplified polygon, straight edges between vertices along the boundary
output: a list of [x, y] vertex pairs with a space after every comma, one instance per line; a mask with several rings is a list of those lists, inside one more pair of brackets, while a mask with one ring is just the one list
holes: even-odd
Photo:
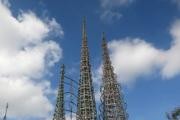
[[64, 74], [65, 74], [65, 66], [62, 65], [61, 66], [61, 80], [59, 83], [57, 103], [56, 103], [56, 108], [55, 108], [53, 120], [65, 120], [65, 113], [64, 113]]

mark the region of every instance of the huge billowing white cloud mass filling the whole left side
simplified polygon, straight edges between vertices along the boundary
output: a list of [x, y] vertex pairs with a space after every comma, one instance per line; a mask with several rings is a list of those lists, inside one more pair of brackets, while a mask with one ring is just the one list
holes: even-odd
[[53, 108], [45, 75], [62, 57], [60, 46], [48, 39], [62, 37], [62, 27], [32, 11], [15, 17], [7, 0], [0, 0], [0, 11], [0, 108], [8, 102], [10, 118], [45, 119]]

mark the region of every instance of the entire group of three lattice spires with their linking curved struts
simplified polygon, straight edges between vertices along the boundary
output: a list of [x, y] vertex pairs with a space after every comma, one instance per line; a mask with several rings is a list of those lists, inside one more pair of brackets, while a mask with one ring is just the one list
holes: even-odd
[[[116, 80], [116, 75], [111, 65], [104, 34], [102, 40], [102, 49], [103, 83], [101, 86], [101, 105], [100, 115], [98, 118], [100, 120], [127, 120], [128, 115], [126, 113], [126, 104], [123, 100], [121, 86]], [[69, 80], [69, 82], [65, 79]], [[85, 18], [82, 26], [80, 80], [77, 82], [76, 80], [66, 76], [65, 66], [62, 65], [61, 80], [53, 120], [65, 120], [67, 112], [69, 113], [68, 119], [70, 120], [98, 119], [94, 88], [92, 85]]]

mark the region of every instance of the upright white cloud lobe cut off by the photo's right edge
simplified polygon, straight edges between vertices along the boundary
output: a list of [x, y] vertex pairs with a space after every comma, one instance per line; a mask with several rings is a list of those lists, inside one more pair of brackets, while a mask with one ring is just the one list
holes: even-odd
[[176, 20], [170, 30], [173, 41], [171, 48], [164, 53], [165, 64], [162, 68], [162, 75], [165, 78], [172, 78], [180, 73], [180, 20]]

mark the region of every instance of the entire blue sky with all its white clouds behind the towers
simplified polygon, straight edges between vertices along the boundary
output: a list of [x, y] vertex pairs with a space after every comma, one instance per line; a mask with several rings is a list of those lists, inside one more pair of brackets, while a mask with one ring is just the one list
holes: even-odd
[[9, 119], [51, 119], [60, 65], [79, 79], [83, 16], [96, 97], [105, 32], [129, 120], [180, 105], [180, 1], [1, 0], [0, 12], [1, 115], [9, 102]]

